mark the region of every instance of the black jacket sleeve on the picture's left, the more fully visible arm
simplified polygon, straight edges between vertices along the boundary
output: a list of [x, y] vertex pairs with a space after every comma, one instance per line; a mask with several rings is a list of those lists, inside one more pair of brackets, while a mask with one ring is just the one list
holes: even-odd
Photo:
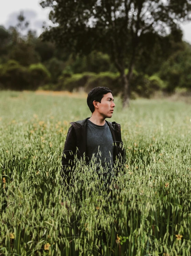
[[77, 136], [74, 127], [71, 126], [68, 130], [64, 150], [62, 152], [62, 171], [61, 176], [67, 179], [70, 184], [70, 175], [74, 166], [74, 154], [76, 153]]

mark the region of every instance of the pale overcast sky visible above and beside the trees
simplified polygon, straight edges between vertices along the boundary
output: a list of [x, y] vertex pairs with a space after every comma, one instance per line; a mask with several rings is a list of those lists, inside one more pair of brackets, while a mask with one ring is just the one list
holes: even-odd
[[[40, 0], [0, 0], [0, 25], [4, 25], [8, 28], [10, 25], [17, 24], [17, 16], [20, 11], [24, 12], [24, 16], [29, 21], [30, 29], [37, 30], [37, 34], [42, 32], [43, 21], [46, 21], [47, 25], [50, 25], [48, 18], [50, 9], [43, 9], [39, 2]], [[191, 43], [191, 22], [182, 25], [184, 32], [183, 39]]]

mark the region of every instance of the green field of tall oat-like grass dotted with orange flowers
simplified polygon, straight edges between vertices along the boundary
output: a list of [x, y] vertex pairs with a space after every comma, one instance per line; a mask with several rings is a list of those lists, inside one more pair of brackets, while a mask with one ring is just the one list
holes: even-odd
[[108, 192], [83, 162], [60, 177], [86, 95], [0, 92], [0, 255], [191, 255], [191, 105], [115, 105], [128, 160]]

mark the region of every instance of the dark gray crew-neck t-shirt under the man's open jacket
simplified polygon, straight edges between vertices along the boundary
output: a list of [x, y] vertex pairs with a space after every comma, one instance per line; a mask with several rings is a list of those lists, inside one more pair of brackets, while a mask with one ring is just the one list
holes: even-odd
[[[99, 149], [99, 150], [98, 150]], [[89, 161], [94, 157], [103, 167], [112, 166], [113, 162], [113, 137], [108, 124], [97, 125], [87, 120], [86, 156]]]

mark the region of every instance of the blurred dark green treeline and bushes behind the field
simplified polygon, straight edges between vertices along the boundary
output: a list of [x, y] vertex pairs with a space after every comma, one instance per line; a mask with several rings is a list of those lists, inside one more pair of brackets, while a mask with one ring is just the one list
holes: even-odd
[[[182, 32], [167, 37], [151, 36], [136, 59], [131, 95], [150, 97], [156, 90], [168, 93], [191, 90], [191, 45], [182, 41]], [[126, 70], [128, 73], [128, 70]], [[29, 31], [21, 36], [17, 27], [0, 27], [0, 89], [89, 91], [107, 86], [122, 93], [120, 74], [109, 56], [93, 51], [74, 56], [51, 42], [43, 42]]]

